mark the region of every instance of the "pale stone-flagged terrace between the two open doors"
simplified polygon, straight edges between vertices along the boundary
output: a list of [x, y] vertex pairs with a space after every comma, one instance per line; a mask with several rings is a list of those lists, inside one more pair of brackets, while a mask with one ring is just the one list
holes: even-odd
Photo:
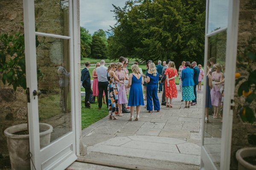
[[84, 160], [116, 162], [127, 169], [200, 169], [202, 99], [199, 92], [198, 104], [184, 108], [178, 91], [173, 108], [161, 106], [151, 114], [142, 106], [139, 121], [128, 121], [130, 113], [118, 120], [105, 117], [82, 130]]

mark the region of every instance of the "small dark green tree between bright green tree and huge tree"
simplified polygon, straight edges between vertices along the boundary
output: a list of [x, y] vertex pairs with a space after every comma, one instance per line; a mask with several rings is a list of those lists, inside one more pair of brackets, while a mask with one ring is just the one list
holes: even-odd
[[91, 45], [91, 54], [90, 57], [97, 59], [107, 58], [107, 47], [106, 44], [102, 41], [102, 38], [96, 35], [93, 35], [93, 41]]

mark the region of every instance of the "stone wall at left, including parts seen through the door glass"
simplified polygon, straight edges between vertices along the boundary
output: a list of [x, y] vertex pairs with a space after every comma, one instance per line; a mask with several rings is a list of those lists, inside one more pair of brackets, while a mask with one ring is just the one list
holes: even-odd
[[[37, 31], [68, 35], [67, 0], [35, 0]], [[0, 34], [23, 33], [23, 1], [0, 0]], [[37, 67], [44, 77], [38, 81], [38, 88], [54, 91], [58, 89], [58, 67], [69, 62], [69, 42], [58, 38], [38, 37]], [[68, 65], [68, 64], [67, 64]], [[66, 68], [69, 70], [69, 68]], [[12, 125], [26, 122], [27, 102], [22, 88], [13, 91], [4, 85], [0, 73], [0, 169], [10, 166], [6, 137], [3, 131]], [[55, 93], [55, 91], [54, 91]]]

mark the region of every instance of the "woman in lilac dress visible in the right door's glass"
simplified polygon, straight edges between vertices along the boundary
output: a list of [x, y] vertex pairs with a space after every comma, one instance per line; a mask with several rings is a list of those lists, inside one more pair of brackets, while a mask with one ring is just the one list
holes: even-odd
[[[222, 67], [221, 64], [215, 64], [216, 71], [212, 72], [212, 84], [214, 85], [215, 82], [220, 82], [224, 78], [224, 74], [221, 72]], [[211, 101], [212, 106], [214, 108], [214, 115], [212, 116], [213, 119], [218, 119], [219, 114], [219, 107], [221, 106], [221, 92], [219, 85], [214, 85], [211, 90]]]

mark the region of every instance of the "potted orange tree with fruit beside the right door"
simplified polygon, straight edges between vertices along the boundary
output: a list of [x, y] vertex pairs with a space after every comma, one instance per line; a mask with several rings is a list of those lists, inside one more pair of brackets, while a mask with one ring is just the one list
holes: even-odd
[[[236, 86], [241, 108], [239, 116], [243, 122], [253, 124], [255, 119], [256, 99], [256, 37], [248, 41], [241, 55], [238, 56], [238, 64], [245, 66], [244, 76], [236, 73]], [[239, 162], [239, 170], [256, 170], [256, 147], [245, 147], [236, 152], [236, 159]]]

